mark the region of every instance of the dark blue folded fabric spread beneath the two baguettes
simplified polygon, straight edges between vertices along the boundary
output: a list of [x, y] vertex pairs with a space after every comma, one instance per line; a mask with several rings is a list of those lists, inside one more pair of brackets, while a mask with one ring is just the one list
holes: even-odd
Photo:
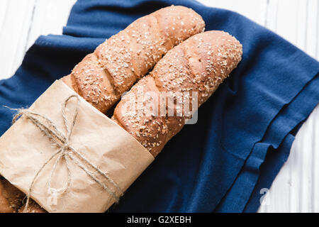
[[169, 5], [191, 7], [206, 30], [243, 45], [242, 62], [110, 211], [254, 212], [286, 161], [294, 134], [319, 101], [319, 62], [232, 11], [183, 0], [79, 0], [63, 35], [40, 36], [0, 81], [0, 135], [12, 108], [30, 106], [105, 38]]

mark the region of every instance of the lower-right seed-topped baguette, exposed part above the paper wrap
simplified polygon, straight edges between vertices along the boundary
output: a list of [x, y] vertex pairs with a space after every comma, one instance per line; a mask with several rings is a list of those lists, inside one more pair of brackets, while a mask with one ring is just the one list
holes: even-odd
[[[167, 100], [164, 116], [161, 116], [161, 92], [173, 95], [198, 92], [199, 107], [237, 67], [241, 57], [242, 45], [228, 33], [206, 31], [194, 35], [169, 50], [152, 72], [123, 96], [112, 119], [156, 157], [183, 128], [187, 118], [186, 111], [177, 116], [177, 102], [169, 105]], [[138, 94], [139, 91], [142, 94]], [[147, 92], [153, 92], [155, 96], [139, 98]], [[150, 106], [157, 106], [155, 114], [147, 114]], [[195, 110], [196, 106], [192, 108]], [[169, 116], [169, 109], [173, 109], [176, 116]]]

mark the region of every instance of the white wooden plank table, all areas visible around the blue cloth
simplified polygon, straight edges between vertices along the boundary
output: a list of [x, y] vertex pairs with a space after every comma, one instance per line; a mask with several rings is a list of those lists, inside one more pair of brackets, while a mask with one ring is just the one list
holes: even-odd
[[[319, 59], [318, 0], [200, 0], [237, 11]], [[10, 77], [39, 35], [61, 34], [75, 0], [0, 0], [0, 79]], [[319, 212], [319, 106], [296, 135], [289, 160], [259, 212]], [[263, 193], [261, 193], [263, 196]]]

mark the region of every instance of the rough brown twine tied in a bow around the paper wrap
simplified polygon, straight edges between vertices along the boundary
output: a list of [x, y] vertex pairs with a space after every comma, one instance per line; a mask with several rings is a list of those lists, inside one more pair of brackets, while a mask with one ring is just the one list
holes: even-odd
[[[68, 101], [72, 98], [77, 98], [77, 106], [76, 106], [76, 109], [74, 111], [74, 116], [72, 118], [71, 127], [69, 128], [68, 121], [67, 121], [67, 118], [65, 115], [65, 109], [67, 108]], [[109, 178], [105, 173], [101, 172], [101, 170], [99, 170], [98, 167], [96, 167], [89, 160], [87, 160], [86, 157], [84, 157], [81, 153], [78, 153], [77, 150], [72, 148], [72, 146], [69, 144], [69, 139], [72, 135], [74, 125], [77, 121], [77, 115], [79, 113], [79, 101], [80, 100], [79, 100], [79, 97], [77, 95], [71, 95], [71, 96], [69, 96], [69, 98], [67, 98], [65, 100], [65, 103], [62, 104], [62, 118], [63, 118], [63, 122], [65, 125], [65, 129], [67, 131], [67, 135], [64, 135], [61, 131], [59, 131], [59, 129], [57, 128], [55, 123], [53, 123], [46, 116], [43, 116], [41, 114], [37, 114], [37, 113], [30, 111], [28, 109], [14, 109], [14, 110], [17, 110], [18, 113], [15, 114], [15, 116], [13, 116], [13, 121], [12, 121], [13, 123], [15, 123], [19, 117], [25, 116], [35, 126], [37, 126], [40, 129], [40, 131], [43, 132], [47, 138], [50, 139], [50, 141], [52, 142], [53, 145], [56, 145], [58, 148], [57, 152], [50, 156], [50, 158], [42, 165], [42, 167], [40, 167], [40, 170], [38, 170], [38, 172], [36, 172], [35, 176], [33, 177], [33, 181], [31, 182], [30, 187], [28, 189], [28, 194], [26, 194], [27, 200], [26, 200], [26, 206], [25, 206], [23, 212], [28, 211], [28, 204], [30, 201], [30, 196], [32, 194], [35, 180], [38, 178], [38, 175], [40, 175], [40, 172], [43, 171], [44, 167], [49, 162], [51, 162], [51, 160], [54, 157], [57, 157], [57, 159], [55, 160], [55, 164], [53, 165], [51, 173], [50, 173], [49, 181], [47, 182], [50, 192], [57, 192], [58, 194], [63, 194], [67, 191], [67, 189], [69, 189], [69, 185], [70, 185], [71, 179], [72, 179], [72, 175], [71, 175], [69, 166], [70, 166], [70, 163], [73, 162], [75, 165], [82, 168], [82, 170], [84, 170], [84, 172], [86, 172], [86, 174], [89, 175], [89, 177], [91, 177], [91, 179], [94, 179], [95, 182], [100, 184], [101, 187], [103, 187], [103, 189], [106, 192], [108, 192], [108, 194], [110, 194], [113, 197], [113, 199], [116, 200], [116, 202], [119, 200], [120, 196], [123, 195], [121, 188], [118, 186], [118, 184], [116, 184], [116, 182], [113, 181], [113, 179]], [[73, 154], [74, 157], [72, 157], [71, 154]], [[61, 187], [60, 189], [55, 189], [55, 188], [51, 187], [51, 182], [52, 182], [52, 178], [53, 178], [53, 175], [55, 173], [55, 170], [57, 170], [57, 165], [62, 160], [65, 160], [65, 163], [67, 166], [67, 184], [65, 185], [65, 187]], [[101, 182], [101, 180], [99, 180], [94, 175], [94, 172], [91, 172], [90, 170], [88, 170], [87, 167], [84, 166], [84, 164], [93, 168], [96, 171], [96, 173], [98, 173], [101, 177], [106, 179], [107, 182], [109, 182], [111, 185], [113, 185], [113, 187], [115, 187], [118, 192], [117, 193], [112, 192], [112, 190], [105, 183]]]

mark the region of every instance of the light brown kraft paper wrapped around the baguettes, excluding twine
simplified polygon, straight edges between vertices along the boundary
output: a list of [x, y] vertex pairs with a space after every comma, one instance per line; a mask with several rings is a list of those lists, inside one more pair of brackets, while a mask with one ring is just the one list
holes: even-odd
[[[56, 81], [30, 111], [50, 118], [65, 132], [62, 104], [76, 94], [63, 82]], [[67, 105], [66, 116], [72, 117], [76, 101]], [[69, 120], [71, 122], [72, 120]], [[154, 160], [154, 157], [133, 136], [80, 97], [79, 114], [69, 143], [91, 163], [113, 179], [125, 192]], [[26, 117], [21, 117], [0, 138], [0, 174], [11, 184], [28, 193], [40, 167], [57, 152], [57, 148]], [[49, 162], [35, 180], [31, 197], [49, 212], [104, 212], [115, 201], [101, 185], [79, 166], [71, 163], [71, 182], [64, 194], [52, 198], [48, 181], [55, 160]], [[51, 187], [61, 188], [67, 182], [65, 162], [59, 162]], [[112, 184], [106, 184], [114, 190]]]

